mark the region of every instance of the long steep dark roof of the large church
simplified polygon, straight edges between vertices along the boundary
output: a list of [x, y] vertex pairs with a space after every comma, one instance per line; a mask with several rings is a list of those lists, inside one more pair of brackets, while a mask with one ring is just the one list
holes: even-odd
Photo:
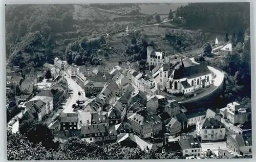
[[174, 71], [174, 79], [181, 78], [196, 78], [203, 75], [211, 74], [206, 64], [197, 64], [194, 66], [188, 66], [179, 68]]

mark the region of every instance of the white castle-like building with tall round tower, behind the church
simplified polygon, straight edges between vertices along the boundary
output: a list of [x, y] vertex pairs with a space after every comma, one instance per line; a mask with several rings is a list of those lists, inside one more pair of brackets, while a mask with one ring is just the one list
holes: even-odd
[[165, 54], [163, 52], [156, 52], [152, 46], [147, 47], [147, 62], [148, 65], [161, 65], [164, 63]]

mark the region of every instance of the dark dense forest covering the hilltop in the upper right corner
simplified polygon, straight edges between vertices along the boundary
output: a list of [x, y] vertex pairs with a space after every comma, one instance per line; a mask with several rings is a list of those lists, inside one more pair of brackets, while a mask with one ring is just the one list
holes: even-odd
[[232, 34], [250, 27], [250, 3], [189, 3], [176, 11], [185, 26]]

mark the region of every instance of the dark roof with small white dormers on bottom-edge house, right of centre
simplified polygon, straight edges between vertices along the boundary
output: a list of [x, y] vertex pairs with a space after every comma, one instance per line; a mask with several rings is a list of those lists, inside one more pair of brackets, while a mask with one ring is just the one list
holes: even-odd
[[179, 143], [182, 150], [201, 148], [201, 143], [197, 135], [181, 135]]

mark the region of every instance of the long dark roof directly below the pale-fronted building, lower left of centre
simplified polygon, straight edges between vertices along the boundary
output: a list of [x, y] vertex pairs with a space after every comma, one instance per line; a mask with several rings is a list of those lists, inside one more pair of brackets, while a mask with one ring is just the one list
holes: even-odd
[[81, 127], [81, 134], [105, 133], [106, 129], [103, 124], [88, 125]]

